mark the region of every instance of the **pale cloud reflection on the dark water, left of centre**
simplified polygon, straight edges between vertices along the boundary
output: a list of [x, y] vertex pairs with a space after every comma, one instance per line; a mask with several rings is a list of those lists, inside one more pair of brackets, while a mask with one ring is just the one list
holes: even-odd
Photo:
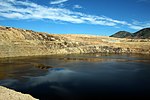
[[31, 77], [29, 80], [30, 86], [37, 86], [43, 83], [63, 82], [68, 80], [75, 72], [64, 70], [63, 68], [50, 69], [45, 76]]

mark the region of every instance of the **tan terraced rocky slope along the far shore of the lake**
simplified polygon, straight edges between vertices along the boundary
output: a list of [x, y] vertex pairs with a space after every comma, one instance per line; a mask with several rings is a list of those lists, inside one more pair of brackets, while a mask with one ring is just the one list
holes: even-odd
[[58, 35], [0, 27], [0, 57], [71, 53], [150, 53], [149, 39]]

